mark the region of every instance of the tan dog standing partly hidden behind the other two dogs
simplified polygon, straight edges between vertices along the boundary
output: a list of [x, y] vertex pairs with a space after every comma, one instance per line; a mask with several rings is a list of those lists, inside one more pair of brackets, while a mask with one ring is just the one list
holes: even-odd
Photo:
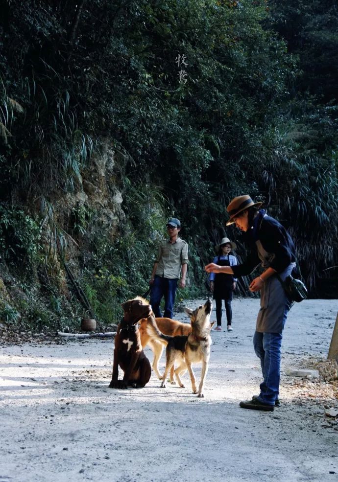
[[[190, 323], [181, 323], [181, 321], [171, 320], [170, 318], [155, 318], [156, 324], [164, 335], [177, 336], [177, 335], [189, 335], [192, 331]], [[149, 324], [149, 318], [143, 318], [140, 321], [139, 330], [141, 337], [142, 347], [145, 348], [148, 345], [153, 354], [154, 360], [152, 362], [152, 368], [156, 373], [159, 380], [162, 380], [162, 375], [159, 372], [158, 362], [163, 353], [163, 348], [167, 346], [168, 342], [165, 339], [155, 339], [147, 332], [147, 326]]]

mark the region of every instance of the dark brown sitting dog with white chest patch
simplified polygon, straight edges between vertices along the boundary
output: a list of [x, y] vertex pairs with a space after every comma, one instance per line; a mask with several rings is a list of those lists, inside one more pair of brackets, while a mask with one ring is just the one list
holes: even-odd
[[[137, 297], [129, 299], [121, 306], [124, 314], [116, 332], [113, 375], [109, 387], [142, 388], [150, 379], [151, 366], [142, 349], [138, 322], [142, 318], [149, 318], [149, 323], [153, 326], [157, 336], [161, 339], [164, 335], [156, 325], [148, 301]], [[119, 365], [124, 372], [122, 380], [119, 380]]]

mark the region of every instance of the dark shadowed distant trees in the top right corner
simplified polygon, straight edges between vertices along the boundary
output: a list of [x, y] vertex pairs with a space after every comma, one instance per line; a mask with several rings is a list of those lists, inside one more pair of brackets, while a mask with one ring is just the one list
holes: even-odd
[[338, 9], [334, 0], [270, 1], [270, 25], [299, 56], [297, 90], [337, 105]]

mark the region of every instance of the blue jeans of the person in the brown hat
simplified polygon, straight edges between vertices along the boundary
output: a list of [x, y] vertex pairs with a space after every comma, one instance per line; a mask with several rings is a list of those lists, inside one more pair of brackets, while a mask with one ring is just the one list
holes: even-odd
[[[290, 302], [287, 301], [283, 318], [283, 329], [290, 310]], [[261, 360], [263, 382], [260, 385], [261, 392], [258, 399], [266, 405], [274, 406], [279, 395], [279, 380], [281, 375], [281, 346], [282, 333], [259, 333], [255, 331], [253, 344], [255, 353]]]

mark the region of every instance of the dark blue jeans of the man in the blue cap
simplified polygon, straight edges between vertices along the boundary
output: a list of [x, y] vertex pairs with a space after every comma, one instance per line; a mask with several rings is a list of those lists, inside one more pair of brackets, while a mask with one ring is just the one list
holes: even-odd
[[155, 280], [151, 285], [150, 304], [156, 318], [161, 318], [160, 310], [161, 299], [164, 296], [164, 317], [172, 318], [172, 310], [175, 302], [175, 294], [177, 289], [178, 278], [162, 278], [155, 276]]

